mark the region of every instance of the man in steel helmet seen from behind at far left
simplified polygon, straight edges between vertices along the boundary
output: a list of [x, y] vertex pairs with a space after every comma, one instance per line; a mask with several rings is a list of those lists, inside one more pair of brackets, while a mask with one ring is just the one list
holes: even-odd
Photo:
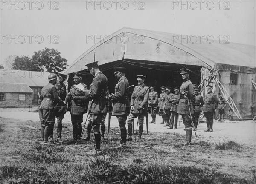
[[64, 102], [59, 98], [57, 89], [54, 86], [57, 83], [57, 76], [52, 73], [49, 74], [48, 81], [49, 83], [43, 87], [38, 99], [41, 137], [44, 144], [48, 143], [48, 137], [53, 132], [55, 122], [54, 107], [57, 103], [64, 106]]

